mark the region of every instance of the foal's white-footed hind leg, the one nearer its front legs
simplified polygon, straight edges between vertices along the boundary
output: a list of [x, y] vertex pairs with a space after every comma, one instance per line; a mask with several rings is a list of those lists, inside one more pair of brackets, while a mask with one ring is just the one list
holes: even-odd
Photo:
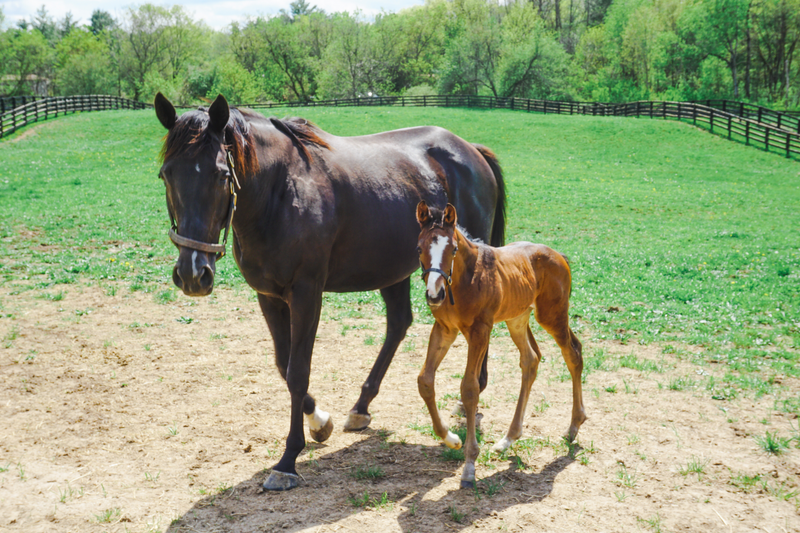
[[536, 344], [536, 339], [533, 338], [533, 332], [528, 325], [530, 318], [530, 311], [522, 315], [507, 320], [508, 332], [511, 334], [511, 340], [519, 350], [519, 367], [522, 370], [522, 383], [519, 389], [519, 399], [517, 400], [517, 410], [514, 412], [514, 418], [508, 428], [506, 436], [492, 446], [492, 450], [496, 452], [503, 452], [509, 446], [522, 436], [522, 421], [525, 418], [525, 409], [528, 406], [528, 398], [530, 397], [531, 387], [533, 382], [536, 381], [536, 372], [539, 368], [539, 361], [542, 359], [542, 353], [539, 351], [539, 346]]

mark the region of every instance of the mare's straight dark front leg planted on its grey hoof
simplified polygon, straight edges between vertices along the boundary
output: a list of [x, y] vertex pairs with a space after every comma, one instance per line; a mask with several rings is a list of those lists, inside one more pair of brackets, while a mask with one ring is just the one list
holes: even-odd
[[289, 296], [291, 350], [286, 368], [286, 384], [292, 397], [291, 421], [283, 457], [264, 482], [264, 488], [267, 490], [288, 490], [299, 484], [295, 462], [306, 446], [303, 403], [308, 394], [311, 352], [314, 348], [321, 307], [321, 283], [300, 282], [292, 287]]

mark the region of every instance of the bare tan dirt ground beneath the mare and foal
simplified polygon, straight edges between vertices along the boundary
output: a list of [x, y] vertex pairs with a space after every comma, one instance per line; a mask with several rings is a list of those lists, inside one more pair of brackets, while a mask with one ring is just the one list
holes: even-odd
[[[0, 288], [0, 531], [800, 531], [798, 441], [775, 456], [755, 440], [796, 435], [798, 421], [768, 396], [669, 390], [724, 369], [661, 346], [579, 333], [585, 355], [604, 350], [608, 370], [586, 379], [589, 420], [570, 454], [560, 441], [566, 368], [538, 333], [546, 361], [527, 440], [507, 457], [483, 457], [478, 490], [465, 491], [461, 463], [426, 433], [416, 390], [429, 326], [415, 324], [401, 345], [371, 428], [348, 434], [341, 426], [384, 322], [326, 321], [311, 392], [337, 427], [300, 457], [300, 488], [273, 494], [260, 484], [283, 451], [289, 395], [248, 291], [160, 304], [122, 284], [60, 287], [60, 296]], [[614, 364], [630, 354], [667, 371]], [[459, 338], [438, 373], [443, 410], [465, 355]], [[493, 341], [489, 372], [486, 449], [504, 435], [519, 390], [508, 337]]]

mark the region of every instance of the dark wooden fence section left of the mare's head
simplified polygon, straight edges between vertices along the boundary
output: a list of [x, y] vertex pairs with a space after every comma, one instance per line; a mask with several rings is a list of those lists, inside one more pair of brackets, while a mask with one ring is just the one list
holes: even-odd
[[78, 111], [105, 111], [108, 109], [145, 109], [152, 107], [127, 98], [90, 94], [83, 96], [58, 96], [52, 98], [10, 97], [5, 100], [27, 99], [26, 102], [0, 114], [0, 138], [19, 128], [59, 115]]

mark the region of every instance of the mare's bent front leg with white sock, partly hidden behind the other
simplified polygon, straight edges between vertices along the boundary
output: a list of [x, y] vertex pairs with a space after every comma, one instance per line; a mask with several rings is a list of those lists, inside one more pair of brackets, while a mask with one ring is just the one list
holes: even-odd
[[[280, 298], [273, 298], [263, 294], [258, 295], [261, 313], [267, 321], [267, 327], [275, 344], [275, 365], [281, 377], [286, 380], [286, 368], [289, 366], [289, 353], [291, 351], [291, 315], [289, 306]], [[331, 415], [318, 409], [316, 402], [310, 394], [303, 398], [303, 414], [308, 423], [311, 438], [317, 442], [324, 442], [333, 431]]]

